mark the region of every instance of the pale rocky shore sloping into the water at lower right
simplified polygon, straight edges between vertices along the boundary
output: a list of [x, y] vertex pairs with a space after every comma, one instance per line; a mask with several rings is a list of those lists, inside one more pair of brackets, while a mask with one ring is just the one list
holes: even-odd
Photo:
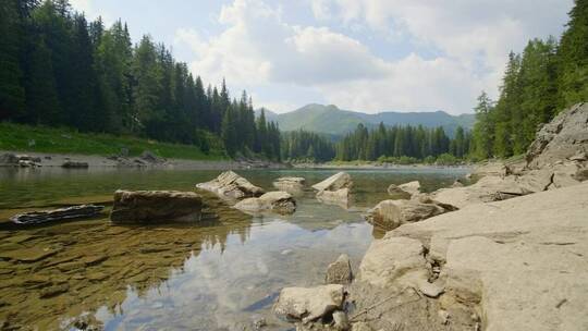
[[354, 281], [284, 289], [274, 311], [296, 330], [588, 330], [587, 155], [579, 103], [473, 185], [389, 188], [404, 198], [367, 214], [390, 231]]

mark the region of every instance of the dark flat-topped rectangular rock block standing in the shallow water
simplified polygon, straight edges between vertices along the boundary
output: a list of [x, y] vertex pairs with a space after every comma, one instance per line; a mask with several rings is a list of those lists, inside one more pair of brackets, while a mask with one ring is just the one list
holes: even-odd
[[201, 197], [193, 192], [117, 191], [110, 220], [114, 223], [198, 221]]

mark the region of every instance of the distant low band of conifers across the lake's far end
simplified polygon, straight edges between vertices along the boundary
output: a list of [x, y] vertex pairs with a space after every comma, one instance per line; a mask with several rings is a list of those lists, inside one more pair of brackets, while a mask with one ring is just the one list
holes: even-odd
[[391, 126], [383, 123], [373, 130], [358, 124], [339, 142], [326, 136], [296, 131], [282, 138], [282, 158], [299, 161], [387, 161], [395, 163], [433, 163], [440, 156], [456, 161], [469, 155], [471, 133], [458, 126], [450, 138], [443, 127], [428, 128], [421, 125]]

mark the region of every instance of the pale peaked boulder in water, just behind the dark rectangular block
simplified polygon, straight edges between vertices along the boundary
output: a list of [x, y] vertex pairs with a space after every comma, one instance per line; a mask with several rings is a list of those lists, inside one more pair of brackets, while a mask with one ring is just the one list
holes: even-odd
[[223, 172], [215, 180], [197, 184], [196, 187], [231, 199], [259, 197], [265, 193], [261, 187], [255, 186], [233, 171]]

